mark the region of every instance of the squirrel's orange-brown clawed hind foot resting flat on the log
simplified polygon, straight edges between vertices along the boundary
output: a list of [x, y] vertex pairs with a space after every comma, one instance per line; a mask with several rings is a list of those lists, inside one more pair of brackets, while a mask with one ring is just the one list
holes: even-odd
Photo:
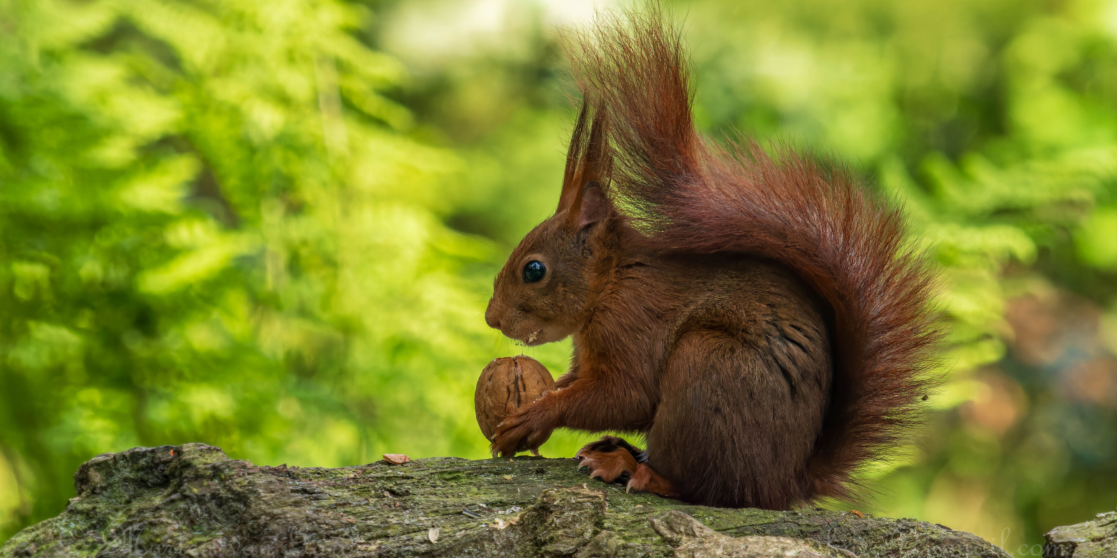
[[603, 436], [579, 450], [579, 469], [590, 470], [590, 477], [605, 482], [621, 482], [627, 490], [651, 492], [665, 498], [678, 498], [678, 490], [662, 475], [652, 471], [643, 450], [617, 436]]

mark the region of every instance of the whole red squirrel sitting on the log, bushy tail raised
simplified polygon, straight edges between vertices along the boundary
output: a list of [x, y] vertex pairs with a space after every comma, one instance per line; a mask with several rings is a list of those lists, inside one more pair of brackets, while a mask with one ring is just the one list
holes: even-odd
[[485, 319], [529, 346], [573, 336], [572, 362], [498, 426], [494, 456], [556, 427], [633, 432], [647, 451], [605, 436], [581, 465], [706, 506], [850, 498], [935, 383], [935, 275], [901, 213], [841, 165], [700, 136], [661, 11], [571, 45], [582, 104], [558, 208]]

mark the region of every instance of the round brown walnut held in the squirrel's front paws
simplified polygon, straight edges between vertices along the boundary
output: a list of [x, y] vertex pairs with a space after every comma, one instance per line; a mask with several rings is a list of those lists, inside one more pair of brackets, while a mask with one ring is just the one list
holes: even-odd
[[538, 360], [528, 356], [496, 358], [477, 378], [474, 407], [477, 425], [485, 439], [493, 441], [496, 425], [513, 411], [555, 388], [551, 373]]

